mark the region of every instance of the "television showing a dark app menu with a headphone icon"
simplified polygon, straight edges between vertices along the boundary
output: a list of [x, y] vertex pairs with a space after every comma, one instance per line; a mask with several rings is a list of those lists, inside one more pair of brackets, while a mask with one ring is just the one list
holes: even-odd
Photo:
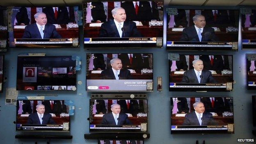
[[17, 90], [76, 90], [73, 56], [18, 56]]

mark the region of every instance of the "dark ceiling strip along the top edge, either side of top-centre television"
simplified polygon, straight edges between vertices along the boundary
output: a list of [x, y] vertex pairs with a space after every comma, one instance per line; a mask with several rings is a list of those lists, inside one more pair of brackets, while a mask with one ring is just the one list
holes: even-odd
[[[80, 5], [84, 0], [0, 0], [0, 6], [48, 6], [48, 5]], [[95, 1], [95, 0], [94, 0]], [[100, 0], [98, 0], [100, 1]], [[256, 0], [164, 0], [165, 5], [196, 6], [255, 6]]]

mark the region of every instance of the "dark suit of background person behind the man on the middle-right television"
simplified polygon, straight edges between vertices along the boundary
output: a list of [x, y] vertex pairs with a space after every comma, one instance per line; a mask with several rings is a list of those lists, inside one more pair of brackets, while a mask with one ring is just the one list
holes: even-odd
[[213, 55], [213, 65], [210, 64], [209, 55], [200, 55], [199, 59], [203, 61], [203, 69], [205, 70], [222, 71], [224, 69], [221, 55]]

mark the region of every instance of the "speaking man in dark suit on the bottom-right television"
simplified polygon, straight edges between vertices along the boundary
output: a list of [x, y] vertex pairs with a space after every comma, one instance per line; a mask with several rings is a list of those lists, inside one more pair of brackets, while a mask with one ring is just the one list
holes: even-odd
[[183, 126], [203, 126], [203, 125], [217, 125], [216, 121], [213, 119], [213, 114], [209, 112], [204, 112], [205, 108], [202, 102], [196, 102], [193, 104], [194, 110], [185, 115], [183, 121]]

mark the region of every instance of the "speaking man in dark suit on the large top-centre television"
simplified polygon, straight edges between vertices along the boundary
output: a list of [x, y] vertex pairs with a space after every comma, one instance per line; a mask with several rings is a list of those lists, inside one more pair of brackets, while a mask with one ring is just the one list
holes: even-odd
[[117, 7], [112, 11], [114, 20], [101, 25], [99, 37], [142, 37], [133, 21], [126, 21], [126, 11]]

